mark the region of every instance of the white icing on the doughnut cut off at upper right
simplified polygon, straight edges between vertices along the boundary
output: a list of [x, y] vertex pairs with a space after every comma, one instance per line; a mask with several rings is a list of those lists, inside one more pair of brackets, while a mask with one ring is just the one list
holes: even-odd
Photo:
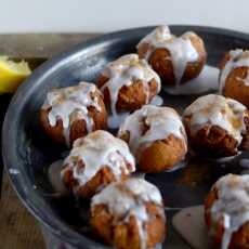
[[[249, 67], [249, 51], [239, 49], [230, 51], [230, 60], [226, 62], [225, 67], [221, 70], [220, 75], [220, 92], [223, 91], [230, 73], [238, 67]], [[246, 79], [238, 78], [238, 80], [245, 82], [245, 86], [248, 87], [249, 74], [247, 74]]]

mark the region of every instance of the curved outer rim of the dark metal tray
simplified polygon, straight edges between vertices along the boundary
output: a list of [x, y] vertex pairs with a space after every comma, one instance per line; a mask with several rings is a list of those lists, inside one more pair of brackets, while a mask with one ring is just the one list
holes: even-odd
[[[22, 99], [25, 96], [29, 96], [31, 92], [35, 91], [35, 88], [39, 86], [39, 82], [42, 82], [43, 78], [47, 77], [47, 75], [51, 74], [51, 70], [56, 70], [60, 68], [61, 63], [65, 63], [65, 60], [70, 60], [71, 56], [79, 56], [79, 54], [88, 53], [88, 49], [93, 49], [97, 45], [103, 45], [105, 42], [115, 41], [118, 42], [123, 39], [128, 39], [131, 36], [134, 36], [137, 31], [147, 31], [152, 30], [156, 26], [145, 26], [145, 27], [137, 27], [137, 28], [130, 28], [130, 29], [123, 29], [119, 31], [114, 31], [109, 34], [102, 35], [100, 37], [90, 39], [88, 41], [84, 41], [82, 43], [79, 43], [77, 45], [74, 45], [69, 50], [60, 53], [58, 55], [55, 55], [54, 57], [48, 60], [45, 63], [43, 63], [41, 66], [39, 66], [37, 69], [34, 70], [31, 76], [25, 80], [25, 82], [18, 88], [17, 92], [14, 94], [14, 96], [11, 100], [11, 103], [9, 105], [8, 112], [5, 114], [5, 118], [3, 121], [2, 127], [2, 157], [3, 157], [3, 165], [5, 168], [5, 171], [9, 175], [9, 179], [11, 181], [12, 187], [15, 189], [15, 193], [17, 194], [18, 198], [23, 202], [23, 205], [28, 209], [28, 211], [42, 224], [50, 233], [58, 237], [62, 241], [68, 243], [69, 245], [78, 248], [78, 247], [87, 247], [89, 249], [96, 249], [96, 248], [109, 248], [104, 246], [101, 243], [96, 243], [84, 235], [74, 231], [69, 225], [63, 223], [60, 221], [60, 223], [56, 223], [54, 221], [51, 221], [45, 219], [44, 215], [41, 215], [41, 212], [39, 210], [39, 207], [34, 207], [34, 205], [30, 201], [27, 201], [29, 199], [28, 195], [24, 193], [24, 191], [21, 188], [22, 186], [22, 176], [18, 174], [10, 174], [9, 170], [12, 168], [18, 168], [17, 163], [14, 163], [13, 167], [13, 158], [14, 150], [13, 145], [11, 144], [11, 141], [13, 137], [11, 130], [15, 127], [13, 124], [13, 116], [15, 117], [15, 114], [18, 113], [22, 105]], [[224, 29], [224, 28], [215, 28], [215, 27], [208, 27], [208, 26], [196, 26], [196, 25], [169, 25], [172, 29], [186, 29], [192, 30], [194, 29], [197, 34], [198, 31], [201, 32], [212, 32], [213, 35], [223, 35], [223, 36], [230, 36], [232, 39], [245, 39], [249, 42], [249, 34], [231, 30], [231, 29]], [[129, 35], [129, 36], [124, 36]], [[37, 81], [38, 83], [34, 84], [34, 82]], [[55, 220], [55, 219], [53, 219]], [[58, 230], [58, 224], [63, 225]]]

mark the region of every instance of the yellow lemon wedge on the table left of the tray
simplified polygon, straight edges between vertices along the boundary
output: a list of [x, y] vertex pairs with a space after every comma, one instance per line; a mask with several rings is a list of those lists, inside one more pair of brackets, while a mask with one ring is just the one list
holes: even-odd
[[0, 93], [13, 93], [31, 74], [25, 61], [13, 62], [8, 56], [0, 56]]

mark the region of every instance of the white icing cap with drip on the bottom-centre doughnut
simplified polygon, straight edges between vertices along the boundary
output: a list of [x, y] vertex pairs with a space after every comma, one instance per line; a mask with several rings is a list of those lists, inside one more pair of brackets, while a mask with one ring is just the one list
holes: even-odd
[[122, 218], [123, 222], [128, 222], [133, 215], [139, 226], [141, 249], [146, 249], [145, 223], [148, 221], [148, 214], [145, 202], [148, 201], [161, 207], [163, 218], [162, 199], [158, 188], [145, 180], [129, 179], [122, 183], [113, 183], [95, 195], [91, 209], [95, 205], [105, 205], [112, 214]]

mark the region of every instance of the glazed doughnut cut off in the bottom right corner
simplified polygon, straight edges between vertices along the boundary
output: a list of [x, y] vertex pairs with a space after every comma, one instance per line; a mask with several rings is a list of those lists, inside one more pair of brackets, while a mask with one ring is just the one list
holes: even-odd
[[218, 180], [205, 201], [205, 218], [213, 248], [249, 248], [249, 175]]

